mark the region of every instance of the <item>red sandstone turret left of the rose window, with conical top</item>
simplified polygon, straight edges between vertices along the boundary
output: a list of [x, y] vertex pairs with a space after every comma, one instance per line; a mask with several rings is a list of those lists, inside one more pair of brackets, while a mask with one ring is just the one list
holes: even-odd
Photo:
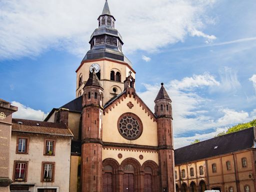
[[103, 87], [94, 69], [83, 87], [81, 128], [81, 191], [100, 192], [102, 185]]

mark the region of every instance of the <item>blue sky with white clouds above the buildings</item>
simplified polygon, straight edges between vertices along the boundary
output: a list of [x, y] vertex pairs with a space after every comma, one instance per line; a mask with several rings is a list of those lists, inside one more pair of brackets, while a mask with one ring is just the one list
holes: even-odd
[[[136, 91], [153, 110], [160, 82], [175, 147], [256, 118], [255, 0], [109, 0]], [[75, 97], [75, 69], [104, 0], [0, 1], [0, 98], [42, 119]], [[125, 7], [125, 9], [123, 8]]]

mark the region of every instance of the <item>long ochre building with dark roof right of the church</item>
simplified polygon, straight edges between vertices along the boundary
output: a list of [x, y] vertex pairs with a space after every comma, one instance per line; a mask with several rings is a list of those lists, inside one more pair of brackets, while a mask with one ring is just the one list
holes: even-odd
[[256, 127], [175, 149], [176, 191], [254, 192]]

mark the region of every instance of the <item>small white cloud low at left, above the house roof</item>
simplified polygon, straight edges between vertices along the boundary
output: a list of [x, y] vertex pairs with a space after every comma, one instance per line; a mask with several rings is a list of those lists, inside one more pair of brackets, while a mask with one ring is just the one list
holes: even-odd
[[12, 101], [11, 105], [17, 106], [18, 110], [13, 113], [13, 118], [24, 118], [24, 119], [31, 119], [31, 120], [43, 120], [48, 113], [45, 113], [41, 110], [35, 110], [28, 106], [25, 106], [19, 102]]

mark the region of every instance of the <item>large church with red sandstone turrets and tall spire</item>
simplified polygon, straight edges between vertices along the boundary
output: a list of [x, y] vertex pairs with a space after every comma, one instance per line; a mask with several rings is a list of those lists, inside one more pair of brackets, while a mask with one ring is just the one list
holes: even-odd
[[45, 121], [73, 133], [70, 191], [174, 191], [171, 99], [163, 83], [152, 112], [135, 90], [135, 70], [105, 1], [76, 69], [76, 98]]

